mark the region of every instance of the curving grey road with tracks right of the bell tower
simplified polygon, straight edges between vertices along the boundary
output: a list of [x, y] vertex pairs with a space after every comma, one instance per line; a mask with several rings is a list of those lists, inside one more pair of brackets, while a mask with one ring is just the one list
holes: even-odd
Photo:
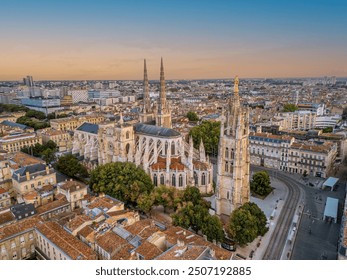
[[[271, 169], [259, 166], [252, 166], [253, 171]], [[288, 195], [284, 202], [280, 216], [278, 217], [273, 237], [268, 245], [265, 253], [264, 260], [279, 260], [281, 259], [282, 251], [285, 246], [289, 229], [292, 225], [294, 214], [296, 212], [298, 203], [301, 198], [301, 184], [293, 180], [289, 175], [282, 172], [276, 172], [276, 178], [282, 181], [288, 188]]]

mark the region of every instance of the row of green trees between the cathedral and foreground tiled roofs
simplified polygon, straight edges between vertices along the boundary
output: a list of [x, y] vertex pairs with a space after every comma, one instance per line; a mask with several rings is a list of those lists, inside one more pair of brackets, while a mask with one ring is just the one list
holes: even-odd
[[[163, 206], [173, 212], [173, 224], [206, 235], [210, 241], [223, 241], [225, 233], [217, 216], [209, 213], [210, 204], [196, 187], [185, 190], [154, 187], [146, 172], [133, 163], [116, 162], [98, 166], [91, 172], [90, 186], [94, 192], [103, 192], [145, 213], [153, 206]], [[246, 203], [231, 215], [227, 232], [243, 245], [267, 231], [266, 217], [254, 203]]]

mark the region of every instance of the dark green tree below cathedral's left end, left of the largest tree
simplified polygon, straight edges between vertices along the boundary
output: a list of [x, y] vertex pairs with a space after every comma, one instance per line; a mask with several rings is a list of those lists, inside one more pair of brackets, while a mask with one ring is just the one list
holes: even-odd
[[58, 159], [55, 168], [61, 173], [72, 178], [88, 177], [87, 169], [73, 155], [65, 155]]

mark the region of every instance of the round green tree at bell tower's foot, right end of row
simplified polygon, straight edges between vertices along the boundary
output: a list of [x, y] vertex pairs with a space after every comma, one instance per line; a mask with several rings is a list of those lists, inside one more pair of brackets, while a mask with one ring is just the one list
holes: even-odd
[[228, 235], [241, 246], [267, 231], [266, 216], [255, 203], [247, 202], [231, 213]]

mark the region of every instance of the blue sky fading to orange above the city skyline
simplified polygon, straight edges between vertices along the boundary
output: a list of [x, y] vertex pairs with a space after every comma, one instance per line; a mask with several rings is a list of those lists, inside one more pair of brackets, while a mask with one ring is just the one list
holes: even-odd
[[347, 1], [1, 0], [0, 80], [347, 76]]

